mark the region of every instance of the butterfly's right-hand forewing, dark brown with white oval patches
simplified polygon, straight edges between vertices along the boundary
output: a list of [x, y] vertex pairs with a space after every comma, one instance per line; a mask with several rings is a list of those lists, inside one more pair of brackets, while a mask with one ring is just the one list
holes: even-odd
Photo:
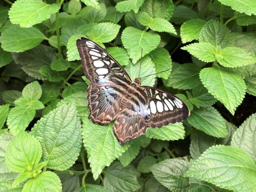
[[174, 124], [185, 120], [190, 114], [182, 100], [164, 90], [141, 86], [138, 91], [145, 97], [145, 102], [141, 102], [141, 113], [146, 126]]

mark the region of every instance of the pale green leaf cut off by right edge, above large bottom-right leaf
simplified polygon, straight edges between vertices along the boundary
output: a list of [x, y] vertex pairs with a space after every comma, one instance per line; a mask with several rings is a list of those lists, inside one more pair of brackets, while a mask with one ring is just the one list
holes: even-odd
[[256, 114], [249, 116], [243, 124], [237, 129], [232, 137], [232, 146], [239, 147], [245, 150], [250, 157], [256, 160]]

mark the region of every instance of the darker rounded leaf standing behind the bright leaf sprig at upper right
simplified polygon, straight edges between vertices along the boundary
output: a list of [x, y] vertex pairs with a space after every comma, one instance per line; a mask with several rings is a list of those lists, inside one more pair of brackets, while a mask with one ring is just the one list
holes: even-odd
[[209, 20], [199, 33], [199, 42], [209, 42], [224, 48], [230, 40], [230, 30], [217, 20]]

